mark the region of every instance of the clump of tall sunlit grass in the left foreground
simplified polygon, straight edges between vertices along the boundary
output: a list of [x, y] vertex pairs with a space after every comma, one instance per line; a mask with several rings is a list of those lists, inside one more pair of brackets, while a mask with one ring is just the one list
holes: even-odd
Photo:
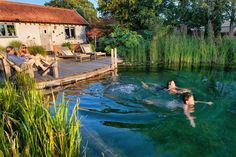
[[29, 77], [18, 84], [0, 88], [0, 156], [79, 156], [78, 103], [70, 116], [64, 101], [50, 111]]

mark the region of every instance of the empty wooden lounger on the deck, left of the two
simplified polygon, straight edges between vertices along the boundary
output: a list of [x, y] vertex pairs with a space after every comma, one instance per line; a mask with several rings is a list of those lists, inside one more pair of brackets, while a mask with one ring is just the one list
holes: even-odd
[[75, 58], [76, 61], [79, 60], [80, 62], [82, 62], [84, 58], [91, 59], [91, 55], [82, 54], [82, 53], [80, 54], [73, 53], [68, 47], [62, 47], [57, 57], [63, 58], [63, 59]]

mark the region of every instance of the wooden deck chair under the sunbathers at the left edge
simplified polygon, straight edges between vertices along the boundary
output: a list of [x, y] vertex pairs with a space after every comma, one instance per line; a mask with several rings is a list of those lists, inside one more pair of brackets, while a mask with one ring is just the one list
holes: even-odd
[[16, 72], [26, 72], [30, 75], [30, 77], [32, 78], [34, 77], [34, 71], [31, 65], [27, 64], [17, 65], [16, 63], [8, 60], [7, 55], [4, 52], [0, 52], [0, 60], [2, 62], [6, 77], [12, 76], [11, 68], [13, 68]]

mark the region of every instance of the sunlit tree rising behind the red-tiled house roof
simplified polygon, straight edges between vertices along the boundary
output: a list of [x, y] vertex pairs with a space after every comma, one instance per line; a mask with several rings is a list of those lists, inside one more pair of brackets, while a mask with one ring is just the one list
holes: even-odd
[[98, 21], [97, 11], [89, 0], [51, 0], [46, 6], [75, 9], [89, 23]]

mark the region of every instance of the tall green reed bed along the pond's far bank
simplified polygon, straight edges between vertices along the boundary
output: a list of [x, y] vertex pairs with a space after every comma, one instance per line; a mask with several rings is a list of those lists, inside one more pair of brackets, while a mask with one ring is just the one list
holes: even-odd
[[[179, 34], [155, 36], [127, 51], [126, 61], [162, 65], [236, 65], [236, 39], [204, 39]], [[140, 57], [143, 56], [143, 57]]]

